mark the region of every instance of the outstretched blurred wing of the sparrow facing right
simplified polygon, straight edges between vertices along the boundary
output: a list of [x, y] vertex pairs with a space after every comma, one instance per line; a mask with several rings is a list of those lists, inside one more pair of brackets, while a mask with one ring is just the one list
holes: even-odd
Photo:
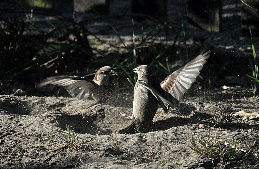
[[41, 88], [47, 85], [56, 85], [64, 87], [73, 98], [79, 101], [85, 101], [92, 96], [95, 86], [94, 81], [79, 76], [52, 76], [42, 80], [37, 87]]

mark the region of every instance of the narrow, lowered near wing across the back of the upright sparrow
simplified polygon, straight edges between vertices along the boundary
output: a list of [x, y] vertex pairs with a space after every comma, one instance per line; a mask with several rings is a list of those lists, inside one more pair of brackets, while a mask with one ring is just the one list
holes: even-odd
[[148, 89], [154, 96], [155, 98], [157, 98], [159, 104], [162, 106], [162, 108], [167, 112], [169, 107], [172, 107], [173, 104], [168, 101], [167, 99], [165, 99], [161, 94], [159, 94], [159, 92], [157, 92], [157, 90], [155, 90], [155, 88], [153, 88], [151, 85], [149, 85], [148, 83], [139, 80], [138, 81], [139, 85], [141, 85], [143, 88]]

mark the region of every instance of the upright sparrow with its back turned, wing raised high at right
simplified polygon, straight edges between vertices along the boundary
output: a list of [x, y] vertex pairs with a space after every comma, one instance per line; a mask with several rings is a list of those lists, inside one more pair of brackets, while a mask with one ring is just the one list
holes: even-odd
[[158, 105], [165, 112], [169, 111], [191, 88], [197, 76], [199, 76], [203, 65], [210, 57], [210, 50], [195, 57], [183, 67], [167, 76], [160, 86], [155, 80], [151, 67], [139, 65], [134, 70], [138, 74], [138, 80], [134, 87], [133, 111], [131, 119], [134, 122], [119, 133], [147, 132], [156, 114]]

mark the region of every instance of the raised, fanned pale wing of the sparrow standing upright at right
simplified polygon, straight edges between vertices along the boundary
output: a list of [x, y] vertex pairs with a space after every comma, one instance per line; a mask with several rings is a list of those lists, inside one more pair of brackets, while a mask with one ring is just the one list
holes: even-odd
[[209, 53], [210, 50], [198, 55], [185, 66], [167, 76], [160, 83], [161, 88], [179, 101], [199, 76], [203, 65], [207, 62], [206, 59], [210, 57]]

